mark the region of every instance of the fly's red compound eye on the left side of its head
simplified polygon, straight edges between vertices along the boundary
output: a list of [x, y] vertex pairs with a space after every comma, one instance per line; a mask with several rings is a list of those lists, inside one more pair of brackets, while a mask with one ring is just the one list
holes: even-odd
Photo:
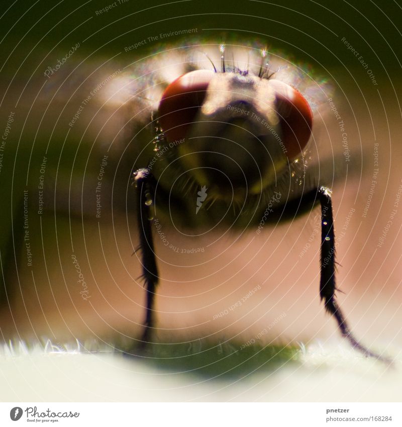
[[172, 81], [159, 104], [159, 123], [169, 141], [184, 138], [202, 106], [208, 84], [214, 76], [211, 70], [190, 71]]

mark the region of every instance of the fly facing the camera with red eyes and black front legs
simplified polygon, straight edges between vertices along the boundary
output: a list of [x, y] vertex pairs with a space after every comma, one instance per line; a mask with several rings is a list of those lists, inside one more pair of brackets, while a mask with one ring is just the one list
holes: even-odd
[[[239, 52], [243, 61], [237, 62]], [[168, 211], [165, 218], [187, 227], [257, 228], [262, 217], [275, 223], [319, 204], [325, 309], [355, 349], [385, 360], [359, 343], [337, 303], [331, 190], [318, 185], [306, 168], [314, 121], [309, 86], [299, 84], [306, 78], [295, 67], [273, 62], [266, 49], [209, 47], [197, 60], [181, 64], [152, 103], [156, 155], [134, 173], [146, 287], [142, 345], [155, 327], [159, 272], [153, 218]], [[189, 189], [198, 191], [196, 209], [185, 196]]]

